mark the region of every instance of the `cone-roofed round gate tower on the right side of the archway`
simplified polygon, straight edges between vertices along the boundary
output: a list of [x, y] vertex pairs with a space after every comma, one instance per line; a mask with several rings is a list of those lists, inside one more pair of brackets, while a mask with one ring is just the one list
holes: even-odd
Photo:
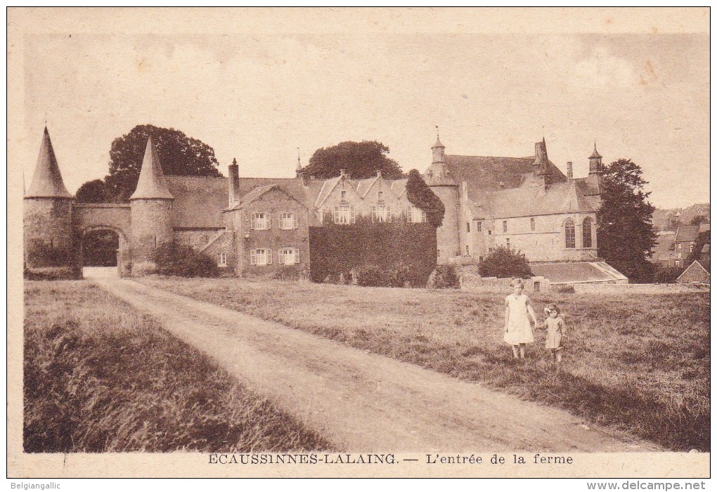
[[170, 214], [173, 200], [152, 138], [149, 138], [137, 189], [130, 197], [132, 275], [145, 275], [155, 270], [157, 248], [174, 240]]

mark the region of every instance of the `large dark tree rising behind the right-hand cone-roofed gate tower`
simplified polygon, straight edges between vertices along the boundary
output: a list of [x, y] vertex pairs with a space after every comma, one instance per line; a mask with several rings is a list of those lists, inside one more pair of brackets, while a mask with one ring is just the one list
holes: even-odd
[[142, 166], [147, 139], [157, 149], [162, 171], [176, 176], [222, 176], [214, 148], [174, 128], [139, 125], [115, 138], [110, 148], [110, 174], [105, 176], [113, 201], [126, 202], [133, 194]]

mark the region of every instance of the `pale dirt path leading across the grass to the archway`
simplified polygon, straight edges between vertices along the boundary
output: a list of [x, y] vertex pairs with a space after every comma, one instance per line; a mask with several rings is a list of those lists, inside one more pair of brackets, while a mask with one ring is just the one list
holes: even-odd
[[[647, 451], [567, 412], [132, 280], [93, 278], [149, 311], [341, 450]], [[337, 320], [337, 322], [340, 322]]]

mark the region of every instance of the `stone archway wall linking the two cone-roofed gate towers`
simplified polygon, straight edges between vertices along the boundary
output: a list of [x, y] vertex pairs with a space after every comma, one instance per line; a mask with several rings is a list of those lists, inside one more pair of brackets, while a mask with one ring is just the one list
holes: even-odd
[[117, 272], [120, 277], [130, 275], [130, 204], [93, 203], [72, 204], [72, 229], [79, 241], [85, 233], [92, 230], [112, 230], [117, 232], [120, 247], [117, 254]]

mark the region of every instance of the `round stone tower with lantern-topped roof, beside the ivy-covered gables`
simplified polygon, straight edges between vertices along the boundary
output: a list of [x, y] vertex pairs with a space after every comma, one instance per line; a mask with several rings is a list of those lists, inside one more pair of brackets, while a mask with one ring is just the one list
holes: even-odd
[[448, 262], [448, 258], [460, 255], [460, 228], [458, 226], [458, 184], [450, 175], [445, 160], [445, 146], [436, 138], [431, 147], [433, 162], [424, 174], [424, 180], [430, 189], [441, 199], [445, 207], [443, 224], [436, 231], [438, 242], [438, 258], [440, 265]]

